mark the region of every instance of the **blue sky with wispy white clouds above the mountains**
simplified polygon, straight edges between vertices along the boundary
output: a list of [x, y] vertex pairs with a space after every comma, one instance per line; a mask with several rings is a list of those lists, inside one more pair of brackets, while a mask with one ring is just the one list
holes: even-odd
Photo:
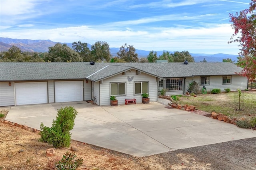
[[0, 37], [237, 54], [229, 13], [250, 0], [0, 0]]

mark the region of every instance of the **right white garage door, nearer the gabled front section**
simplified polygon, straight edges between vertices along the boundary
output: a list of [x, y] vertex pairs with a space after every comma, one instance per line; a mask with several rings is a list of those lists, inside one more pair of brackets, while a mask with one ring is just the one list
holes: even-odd
[[83, 81], [55, 81], [55, 102], [83, 101]]

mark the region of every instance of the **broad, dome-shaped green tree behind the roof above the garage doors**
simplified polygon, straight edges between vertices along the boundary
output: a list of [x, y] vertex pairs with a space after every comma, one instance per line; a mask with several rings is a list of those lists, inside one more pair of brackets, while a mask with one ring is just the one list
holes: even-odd
[[44, 55], [45, 61], [51, 62], [72, 62], [83, 61], [79, 53], [68, 47], [67, 44], [56, 43], [49, 47], [48, 54]]

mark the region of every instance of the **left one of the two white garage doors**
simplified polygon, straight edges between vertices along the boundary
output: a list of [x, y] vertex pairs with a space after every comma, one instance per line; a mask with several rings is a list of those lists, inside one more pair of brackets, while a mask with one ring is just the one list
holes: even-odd
[[47, 82], [15, 83], [16, 105], [48, 103]]

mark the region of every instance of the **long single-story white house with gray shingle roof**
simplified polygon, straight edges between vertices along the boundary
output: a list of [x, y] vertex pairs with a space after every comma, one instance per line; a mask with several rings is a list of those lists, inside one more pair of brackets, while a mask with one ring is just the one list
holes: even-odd
[[110, 96], [157, 101], [160, 91], [182, 95], [191, 81], [209, 92], [248, 88], [248, 79], [232, 63], [0, 63], [0, 106], [93, 100], [110, 105]]

